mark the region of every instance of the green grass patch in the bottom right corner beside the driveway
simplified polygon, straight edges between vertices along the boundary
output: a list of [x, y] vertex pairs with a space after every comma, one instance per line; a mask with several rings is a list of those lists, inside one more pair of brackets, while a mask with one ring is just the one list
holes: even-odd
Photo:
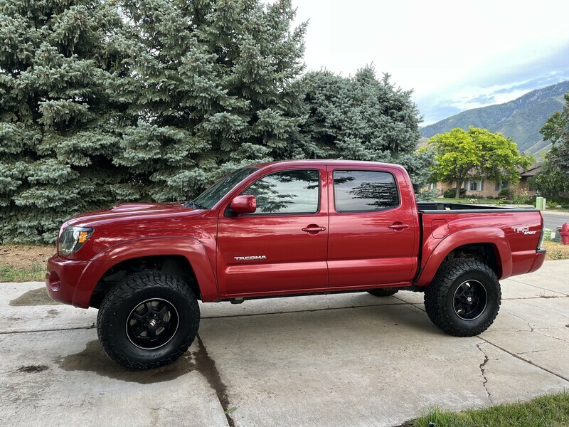
[[405, 427], [561, 427], [569, 426], [569, 392], [541, 396], [529, 402], [448, 412], [435, 408]]

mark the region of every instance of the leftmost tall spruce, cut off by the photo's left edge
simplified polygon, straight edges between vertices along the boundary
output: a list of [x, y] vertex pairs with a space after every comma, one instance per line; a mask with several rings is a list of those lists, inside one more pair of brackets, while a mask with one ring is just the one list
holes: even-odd
[[53, 242], [65, 218], [138, 196], [112, 164], [121, 26], [101, 0], [0, 0], [0, 242]]

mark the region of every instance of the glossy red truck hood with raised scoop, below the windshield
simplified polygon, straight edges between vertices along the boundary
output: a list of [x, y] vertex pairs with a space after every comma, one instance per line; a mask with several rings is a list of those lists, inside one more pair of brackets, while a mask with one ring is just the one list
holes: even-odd
[[177, 215], [194, 215], [199, 211], [186, 208], [180, 202], [174, 203], [124, 203], [110, 209], [87, 212], [73, 216], [64, 226], [96, 227], [110, 222], [132, 221], [138, 218], [171, 218]]

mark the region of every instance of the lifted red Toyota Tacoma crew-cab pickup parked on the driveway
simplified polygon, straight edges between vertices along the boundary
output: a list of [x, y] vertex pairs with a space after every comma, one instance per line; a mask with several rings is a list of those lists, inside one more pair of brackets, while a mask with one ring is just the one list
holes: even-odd
[[417, 203], [403, 167], [351, 161], [258, 164], [193, 201], [121, 204], [75, 216], [48, 261], [54, 300], [95, 307], [115, 362], [173, 362], [198, 331], [198, 300], [329, 292], [425, 292], [457, 337], [496, 317], [499, 279], [541, 267], [534, 209]]

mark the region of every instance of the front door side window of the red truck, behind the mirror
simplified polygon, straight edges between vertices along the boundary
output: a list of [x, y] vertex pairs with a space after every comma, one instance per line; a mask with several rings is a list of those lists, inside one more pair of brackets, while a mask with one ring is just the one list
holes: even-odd
[[255, 214], [315, 214], [320, 180], [315, 170], [284, 171], [255, 181], [243, 194], [257, 199]]

